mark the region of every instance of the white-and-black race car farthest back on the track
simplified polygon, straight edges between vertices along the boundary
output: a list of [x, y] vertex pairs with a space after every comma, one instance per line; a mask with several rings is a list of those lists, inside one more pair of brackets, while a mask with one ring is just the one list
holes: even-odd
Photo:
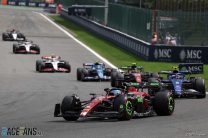
[[17, 30], [7, 30], [2, 34], [2, 40], [4, 41], [24, 41], [25, 36]]

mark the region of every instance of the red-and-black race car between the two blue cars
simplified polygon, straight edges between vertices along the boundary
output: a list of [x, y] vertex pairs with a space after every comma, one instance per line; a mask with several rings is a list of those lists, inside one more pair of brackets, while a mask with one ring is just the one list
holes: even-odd
[[159, 75], [158, 73], [144, 72], [142, 66], [136, 66], [133, 63], [131, 66], [121, 67], [119, 70], [114, 69], [112, 71], [111, 86], [120, 87], [122, 82], [147, 82], [149, 78], [159, 78]]

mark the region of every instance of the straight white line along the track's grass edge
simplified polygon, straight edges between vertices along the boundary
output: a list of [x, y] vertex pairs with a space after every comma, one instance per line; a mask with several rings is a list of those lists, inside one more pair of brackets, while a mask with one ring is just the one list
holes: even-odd
[[[38, 13], [38, 12], [36, 12]], [[102, 57], [101, 55], [99, 55], [98, 53], [96, 53], [94, 50], [92, 50], [91, 48], [89, 48], [87, 45], [85, 45], [84, 43], [82, 43], [81, 41], [79, 41], [78, 39], [76, 39], [74, 36], [72, 36], [69, 32], [67, 32], [65, 29], [63, 29], [62, 27], [60, 27], [58, 24], [56, 24], [55, 22], [53, 22], [51, 19], [49, 19], [47, 16], [45, 16], [42, 13], [38, 13], [40, 14], [42, 17], [44, 17], [47, 21], [49, 21], [51, 24], [53, 24], [55, 27], [57, 27], [59, 30], [61, 30], [62, 32], [64, 32], [68, 37], [72, 38], [74, 41], [76, 41], [77, 43], [79, 43], [82, 47], [86, 48], [88, 51], [90, 51], [92, 54], [94, 54], [96, 57], [98, 57], [99, 59], [101, 59], [103, 62], [105, 62], [106, 64], [108, 64], [110, 67], [112, 68], [117, 68], [115, 65], [113, 65], [111, 62], [109, 62], [107, 59], [105, 59], [104, 57]]]

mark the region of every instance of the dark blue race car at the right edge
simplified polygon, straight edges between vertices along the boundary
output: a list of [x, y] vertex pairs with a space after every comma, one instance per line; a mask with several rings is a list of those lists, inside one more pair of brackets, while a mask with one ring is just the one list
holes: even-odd
[[[200, 77], [190, 77], [191, 72], [178, 70], [177, 67], [172, 71], [161, 71], [160, 74], [167, 74], [167, 79], [162, 79], [168, 89], [173, 91], [176, 97], [196, 97], [205, 98], [205, 81]], [[186, 75], [189, 75], [186, 77]]]

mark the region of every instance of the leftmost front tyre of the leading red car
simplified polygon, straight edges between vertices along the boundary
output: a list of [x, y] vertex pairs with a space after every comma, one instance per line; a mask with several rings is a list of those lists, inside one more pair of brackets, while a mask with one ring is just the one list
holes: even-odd
[[[79, 98], [75, 96], [65, 96], [61, 103], [61, 113], [63, 118], [67, 121], [75, 121], [79, 118], [81, 110], [81, 102]], [[73, 114], [67, 114], [67, 111], [74, 112]], [[77, 112], [77, 113], [76, 113]]]

